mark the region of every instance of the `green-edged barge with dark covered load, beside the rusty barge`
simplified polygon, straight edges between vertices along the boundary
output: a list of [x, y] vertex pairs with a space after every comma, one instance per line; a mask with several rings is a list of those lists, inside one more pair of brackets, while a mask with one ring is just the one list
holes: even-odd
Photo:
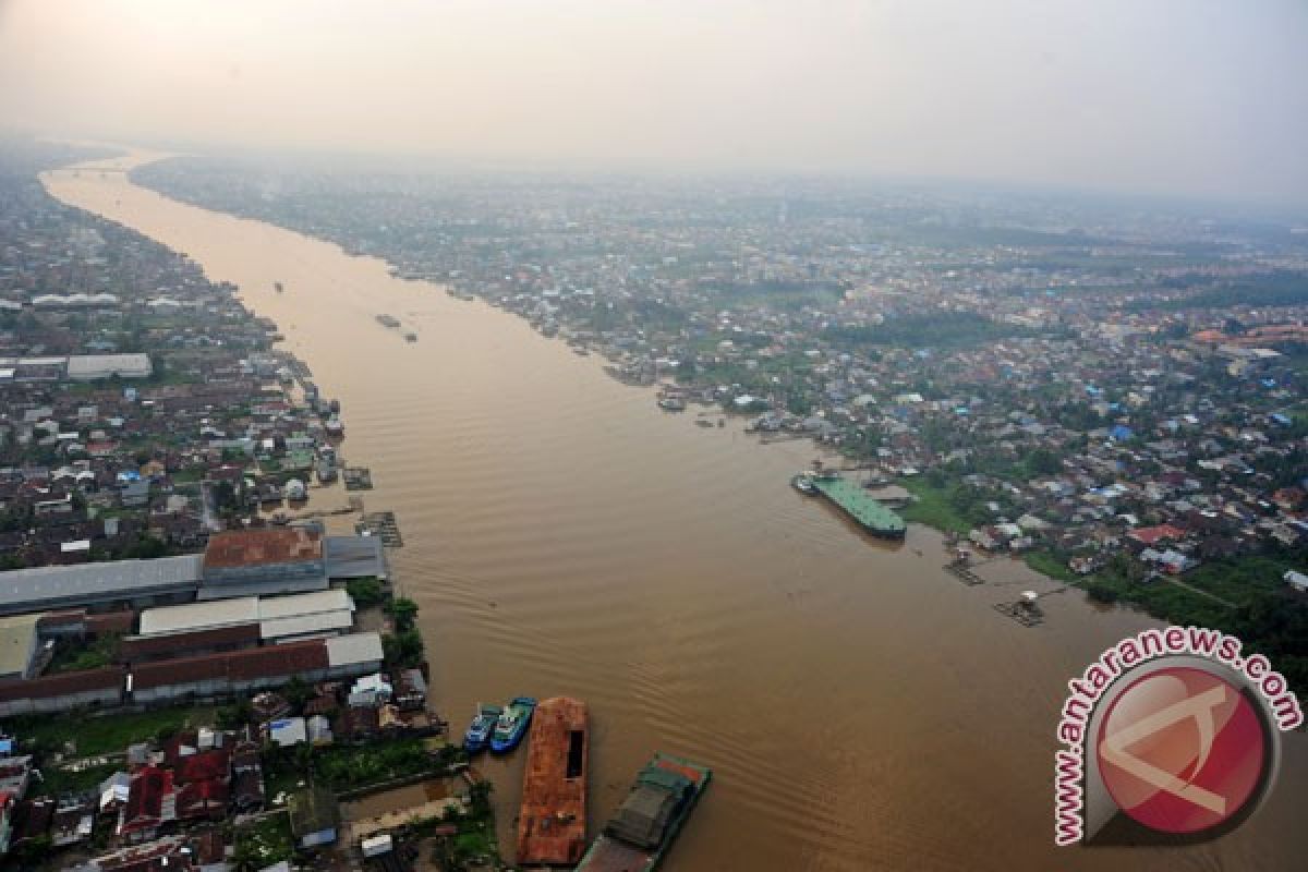
[[710, 778], [706, 766], [655, 753], [576, 872], [657, 869]]

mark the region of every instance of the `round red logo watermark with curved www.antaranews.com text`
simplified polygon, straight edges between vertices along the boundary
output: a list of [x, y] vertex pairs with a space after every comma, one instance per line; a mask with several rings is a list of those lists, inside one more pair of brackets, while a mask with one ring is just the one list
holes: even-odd
[[1058, 723], [1054, 841], [1199, 841], [1271, 790], [1279, 732], [1303, 723], [1266, 658], [1203, 628], [1146, 630], [1079, 679]]

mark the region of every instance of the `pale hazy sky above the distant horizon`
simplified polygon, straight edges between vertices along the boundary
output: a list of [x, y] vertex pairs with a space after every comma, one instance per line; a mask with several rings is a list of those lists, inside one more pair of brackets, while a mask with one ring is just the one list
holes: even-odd
[[1308, 0], [0, 0], [0, 124], [1308, 204]]

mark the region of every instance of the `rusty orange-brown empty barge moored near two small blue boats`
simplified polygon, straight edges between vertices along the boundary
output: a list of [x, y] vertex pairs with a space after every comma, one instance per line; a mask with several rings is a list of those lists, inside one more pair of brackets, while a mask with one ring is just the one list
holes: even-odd
[[543, 699], [531, 716], [518, 865], [577, 865], [586, 851], [586, 703]]

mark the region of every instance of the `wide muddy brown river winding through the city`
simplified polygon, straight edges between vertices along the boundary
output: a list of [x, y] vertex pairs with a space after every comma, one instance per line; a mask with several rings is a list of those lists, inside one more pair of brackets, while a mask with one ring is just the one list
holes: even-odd
[[[1147, 618], [1066, 592], [1019, 626], [991, 605], [1056, 584], [1008, 565], [986, 567], [1003, 586], [960, 584], [920, 527], [903, 545], [867, 539], [789, 486], [806, 443], [696, 428], [599, 358], [335, 244], [123, 173], [43, 179], [277, 322], [341, 400], [369, 509], [399, 518], [392, 567], [421, 605], [436, 705], [462, 729], [477, 701], [585, 699], [593, 834], [662, 749], [715, 770], [667, 872], [1303, 868], [1301, 735], [1267, 804], [1223, 839], [1053, 846], [1066, 681]], [[521, 767], [487, 763], [509, 845]]]

